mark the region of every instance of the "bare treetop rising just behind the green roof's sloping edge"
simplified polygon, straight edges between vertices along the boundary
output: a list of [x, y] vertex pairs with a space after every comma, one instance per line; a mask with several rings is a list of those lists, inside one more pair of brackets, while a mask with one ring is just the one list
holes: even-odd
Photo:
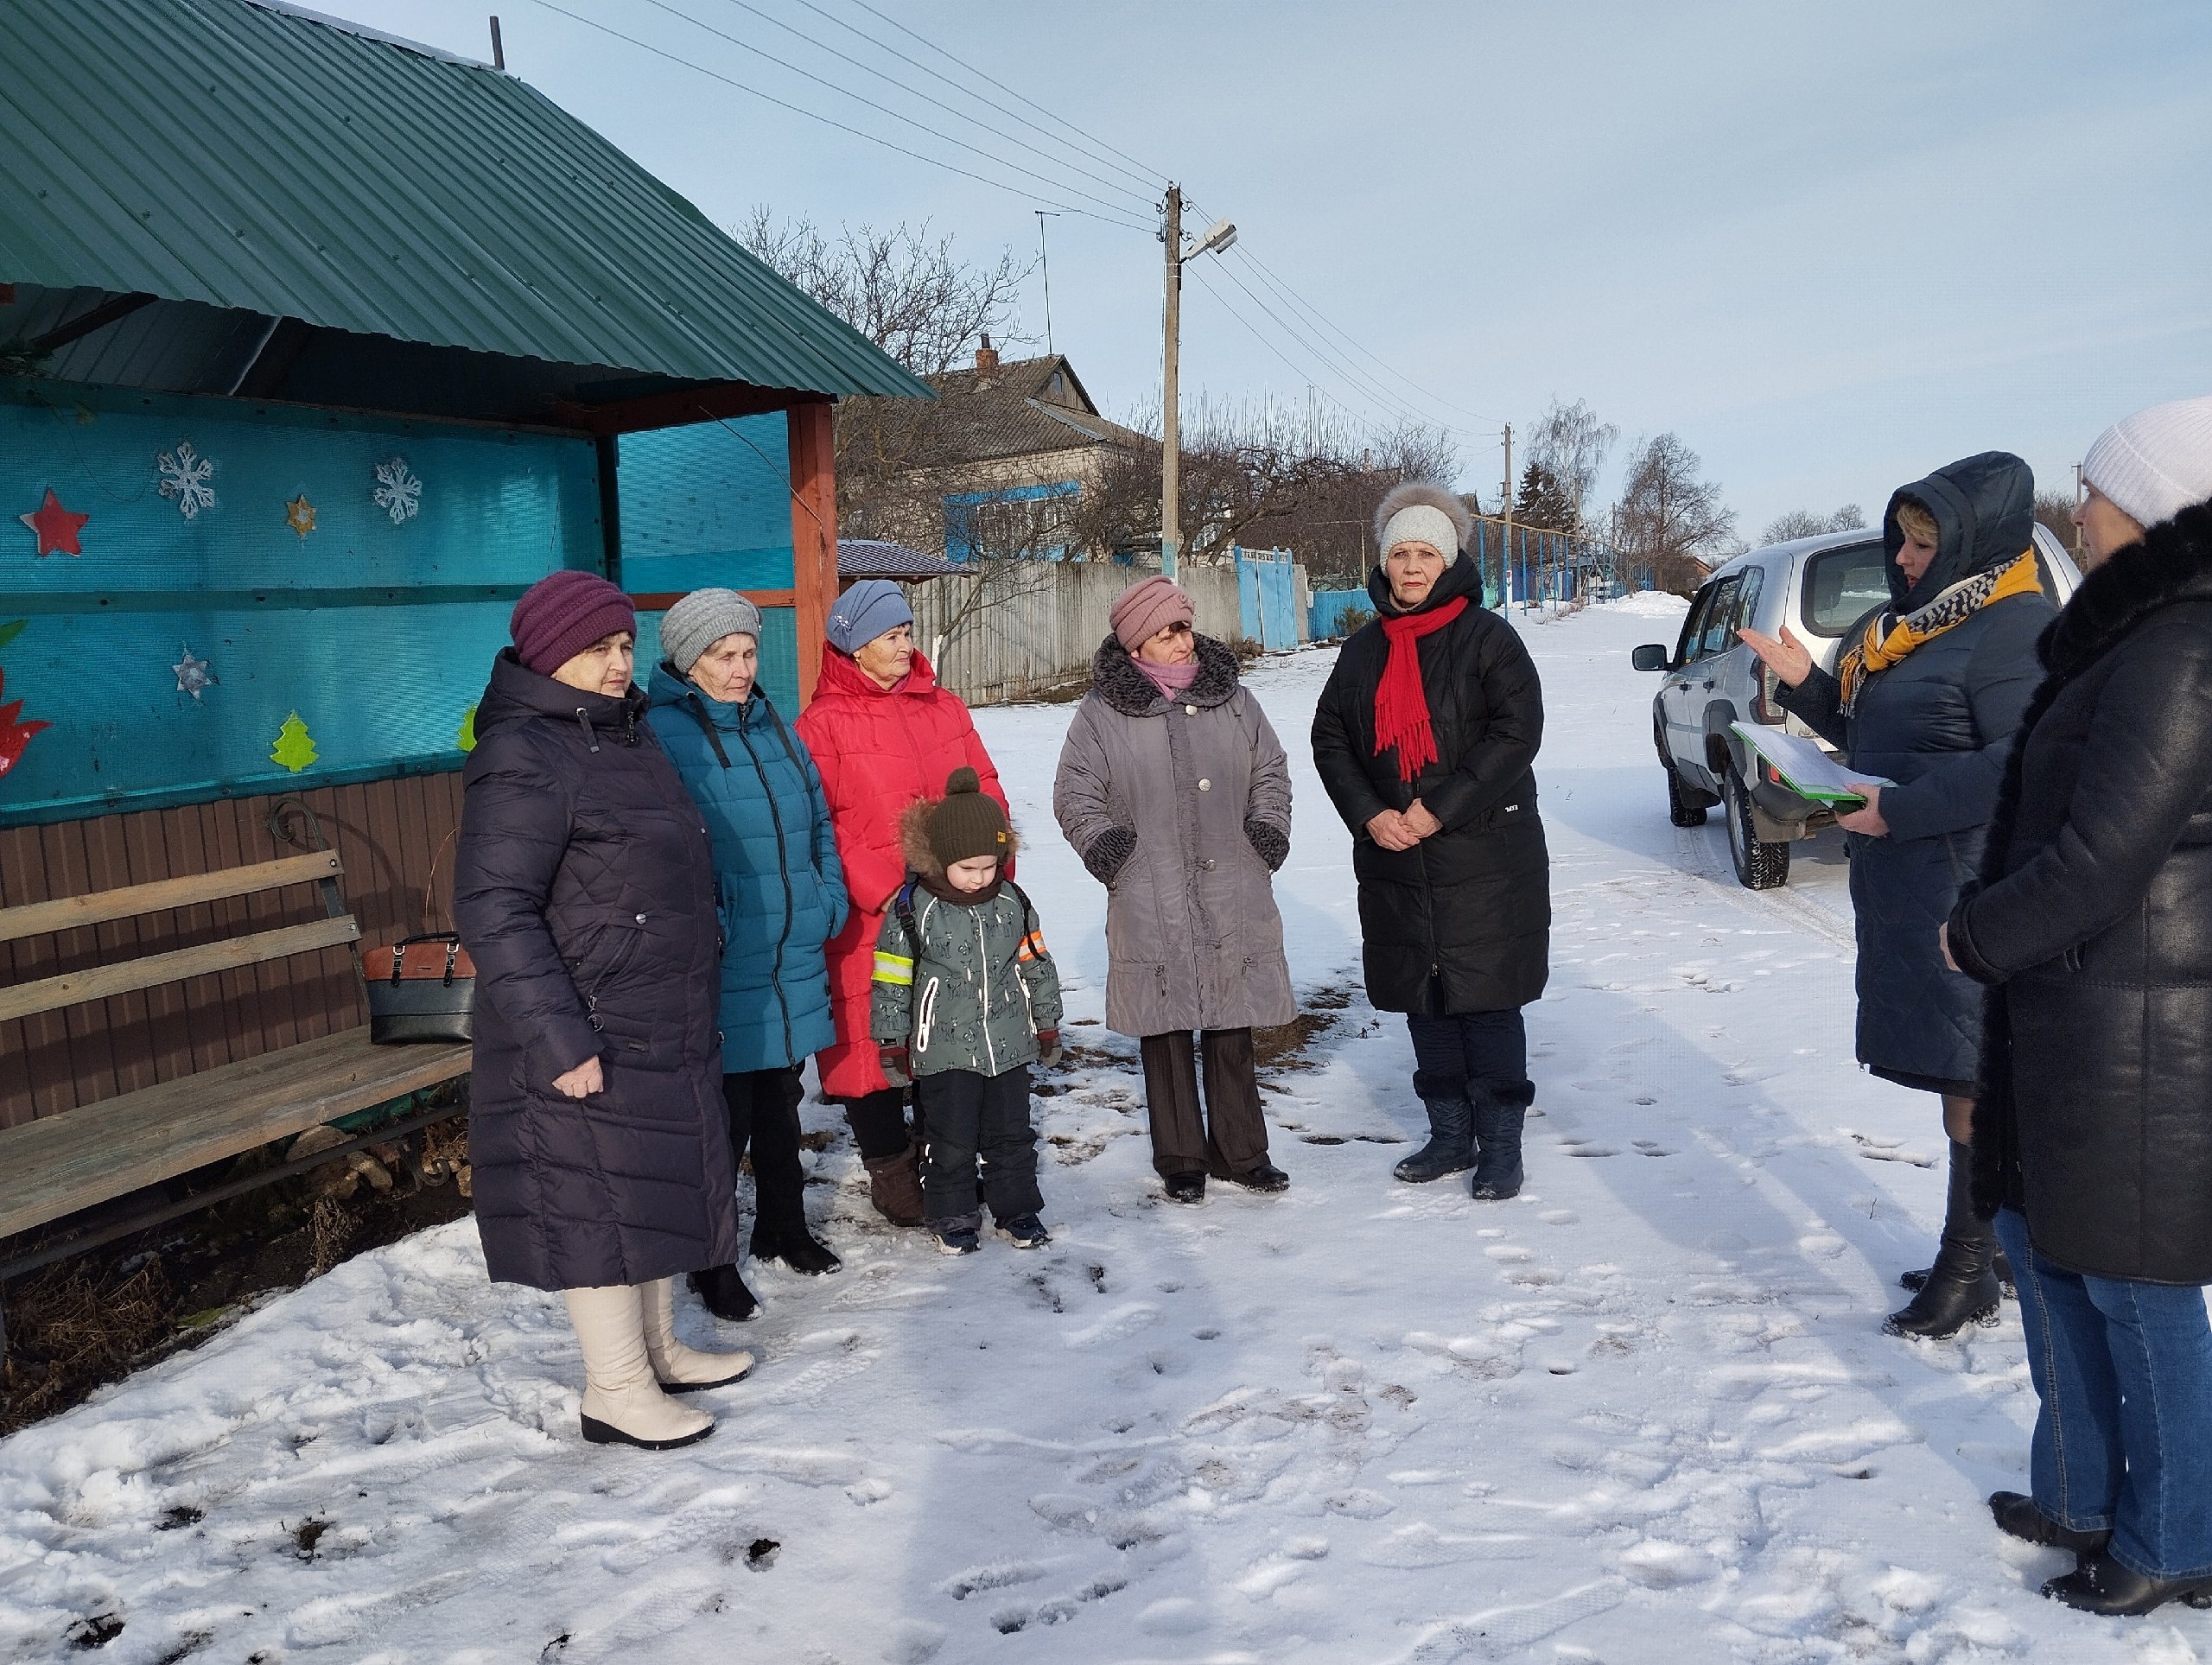
[[810, 219], [779, 221], [757, 206], [734, 237], [916, 376], [942, 376], [984, 332], [1004, 336], [1035, 270], [1011, 250], [995, 263], [971, 263], [953, 252], [949, 234], [931, 237], [929, 221], [841, 226], [830, 237]]

